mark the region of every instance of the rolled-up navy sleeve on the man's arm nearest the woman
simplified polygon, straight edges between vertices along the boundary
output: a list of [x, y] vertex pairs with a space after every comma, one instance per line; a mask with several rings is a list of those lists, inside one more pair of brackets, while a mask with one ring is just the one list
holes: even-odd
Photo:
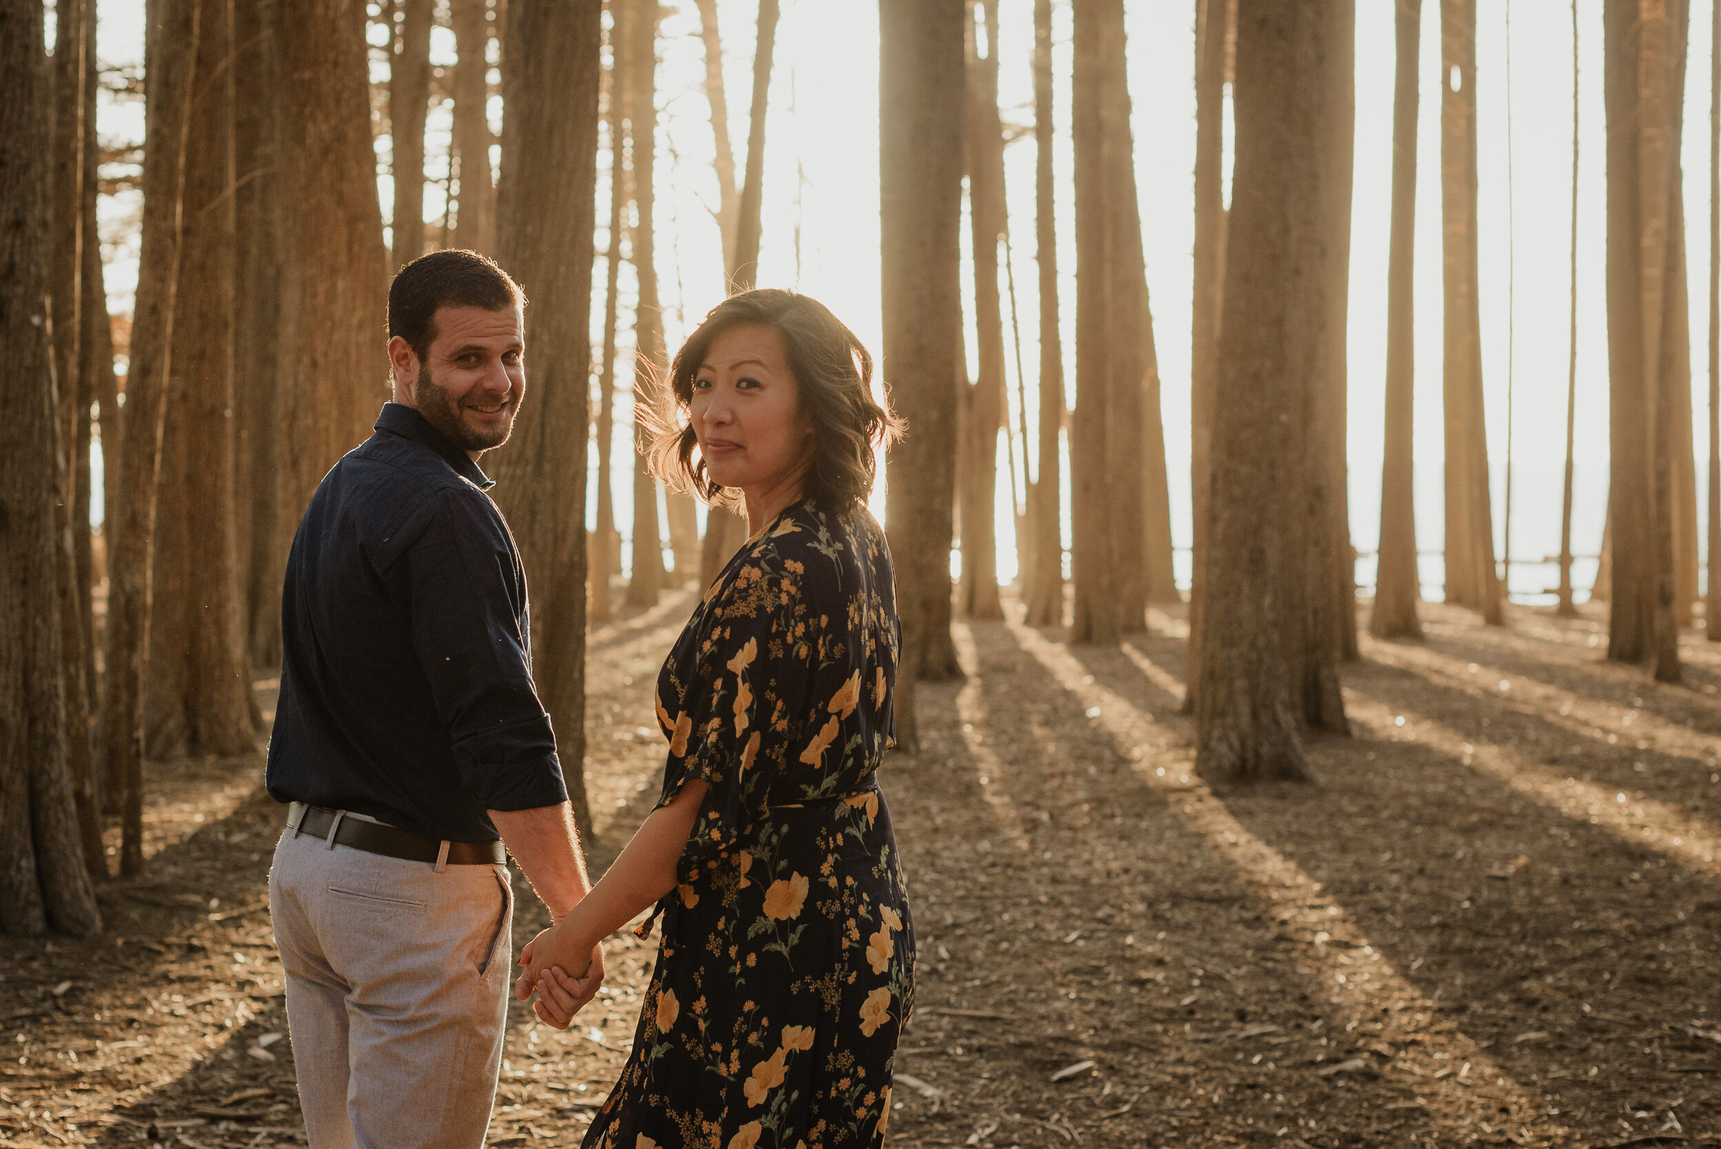
[[413, 647], [461, 783], [487, 810], [564, 802], [549, 714], [532, 685], [525, 574], [490, 501], [449, 490], [406, 547]]

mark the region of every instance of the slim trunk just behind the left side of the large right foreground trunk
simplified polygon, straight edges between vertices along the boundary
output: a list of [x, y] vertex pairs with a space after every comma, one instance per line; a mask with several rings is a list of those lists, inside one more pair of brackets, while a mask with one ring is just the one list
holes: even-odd
[[1201, 611], [1206, 590], [1208, 499], [1213, 487], [1213, 389], [1225, 303], [1225, 71], [1231, 46], [1229, 0], [1196, 0], [1194, 46], [1194, 306], [1189, 356], [1189, 487], [1194, 509], [1189, 568], [1189, 645], [1184, 666], [1186, 714], [1201, 681]]

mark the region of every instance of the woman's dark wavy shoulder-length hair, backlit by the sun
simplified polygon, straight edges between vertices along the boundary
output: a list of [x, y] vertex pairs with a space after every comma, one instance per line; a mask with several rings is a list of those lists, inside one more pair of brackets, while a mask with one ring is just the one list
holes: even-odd
[[873, 356], [860, 339], [817, 299], [773, 287], [730, 296], [675, 353], [669, 363], [675, 409], [668, 416], [642, 413], [652, 428], [652, 473], [671, 488], [692, 490], [716, 506], [738, 501], [738, 492], [714, 483], [706, 461], [694, 458], [699, 442], [688, 413], [694, 378], [711, 342], [742, 323], [774, 327], [783, 334], [788, 370], [800, 389], [800, 404], [812, 418], [812, 463], [802, 495], [838, 513], [866, 502], [878, 471], [874, 447], [895, 442], [904, 423], [891, 413], [888, 399], [879, 402], [873, 397]]

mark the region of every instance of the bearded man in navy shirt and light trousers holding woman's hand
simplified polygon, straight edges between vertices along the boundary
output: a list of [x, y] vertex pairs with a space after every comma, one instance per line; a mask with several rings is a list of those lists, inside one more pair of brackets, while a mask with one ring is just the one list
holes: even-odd
[[[478, 456], [525, 394], [525, 298], [470, 251], [389, 287], [394, 402], [287, 557], [268, 879], [315, 1149], [484, 1144], [508, 1017], [506, 853], [559, 920], [587, 891], [527, 583]], [[506, 851], [504, 851], [506, 843]], [[544, 979], [566, 1027], [602, 979]]]

